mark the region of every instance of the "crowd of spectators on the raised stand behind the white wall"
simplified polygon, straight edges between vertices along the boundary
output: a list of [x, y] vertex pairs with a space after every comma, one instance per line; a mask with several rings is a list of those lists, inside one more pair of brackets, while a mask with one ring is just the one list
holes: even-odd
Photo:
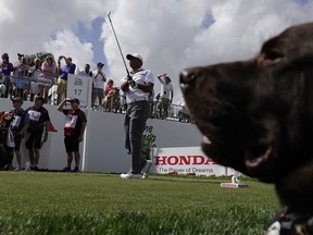
[[[91, 108], [99, 111], [124, 113], [126, 110], [125, 94], [120, 86], [114, 86], [112, 78], [103, 72], [104, 64], [99, 62], [95, 70], [86, 63], [79, 71], [71, 57], [60, 55], [55, 61], [50, 53], [29, 57], [16, 54], [16, 61], [8, 53], [2, 53], [0, 61], [0, 97], [21, 97], [23, 101], [34, 101], [35, 96], [43, 97], [45, 103], [59, 106], [66, 98], [67, 76], [77, 74], [92, 78]], [[166, 74], [158, 76], [161, 92], [150, 96], [150, 118], [167, 119], [175, 115], [179, 121], [181, 107], [172, 104], [174, 89]], [[185, 110], [185, 108], [184, 108]], [[188, 115], [187, 115], [188, 116]], [[184, 118], [186, 120], [186, 116]], [[187, 119], [189, 121], [189, 119]]]

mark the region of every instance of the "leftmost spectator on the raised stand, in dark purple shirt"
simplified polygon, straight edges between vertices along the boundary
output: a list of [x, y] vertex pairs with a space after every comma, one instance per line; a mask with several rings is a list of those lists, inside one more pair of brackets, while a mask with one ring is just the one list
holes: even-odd
[[1, 55], [2, 62], [0, 64], [0, 74], [3, 75], [2, 79], [3, 79], [3, 86], [1, 86], [1, 97], [8, 98], [9, 96], [9, 91], [11, 89], [11, 73], [14, 71], [14, 66], [12, 63], [10, 63], [9, 61], [9, 54], [8, 53], [3, 53]]

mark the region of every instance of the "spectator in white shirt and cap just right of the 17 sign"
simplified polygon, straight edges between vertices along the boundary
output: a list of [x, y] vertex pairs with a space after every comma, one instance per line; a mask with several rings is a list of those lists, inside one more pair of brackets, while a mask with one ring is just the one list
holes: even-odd
[[97, 70], [92, 72], [93, 83], [92, 83], [92, 95], [91, 95], [91, 107], [96, 106], [95, 101], [98, 99], [99, 106], [101, 106], [104, 98], [104, 83], [107, 81], [105, 74], [102, 71], [104, 66], [103, 63], [99, 62], [97, 64]]

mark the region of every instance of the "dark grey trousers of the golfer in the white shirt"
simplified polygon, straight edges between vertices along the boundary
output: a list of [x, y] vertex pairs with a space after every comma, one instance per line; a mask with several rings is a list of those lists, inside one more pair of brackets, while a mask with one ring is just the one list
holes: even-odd
[[146, 122], [150, 114], [150, 103], [148, 101], [137, 101], [127, 104], [125, 114], [125, 148], [132, 154], [133, 174], [140, 174], [146, 160], [141, 157], [142, 134]]

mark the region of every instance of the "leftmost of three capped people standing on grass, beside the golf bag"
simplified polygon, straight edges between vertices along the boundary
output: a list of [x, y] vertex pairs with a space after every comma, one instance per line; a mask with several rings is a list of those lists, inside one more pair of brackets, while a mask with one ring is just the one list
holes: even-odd
[[10, 113], [13, 114], [14, 120], [10, 124], [11, 132], [14, 136], [14, 153], [16, 157], [17, 165], [15, 168], [15, 171], [22, 170], [21, 164], [22, 164], [22, 157], [21, 157], [21, 141], [22, 138], [24, 137], [25, 133], [27, 132], [28, 128], [28, 123], [29, 123], [29, 116], [28, 113], [22, 108], [23, 104], [23, 99], [21, 97], [15, 97], [11, 99], [13, 102], [13, 110], [10, 111]]

